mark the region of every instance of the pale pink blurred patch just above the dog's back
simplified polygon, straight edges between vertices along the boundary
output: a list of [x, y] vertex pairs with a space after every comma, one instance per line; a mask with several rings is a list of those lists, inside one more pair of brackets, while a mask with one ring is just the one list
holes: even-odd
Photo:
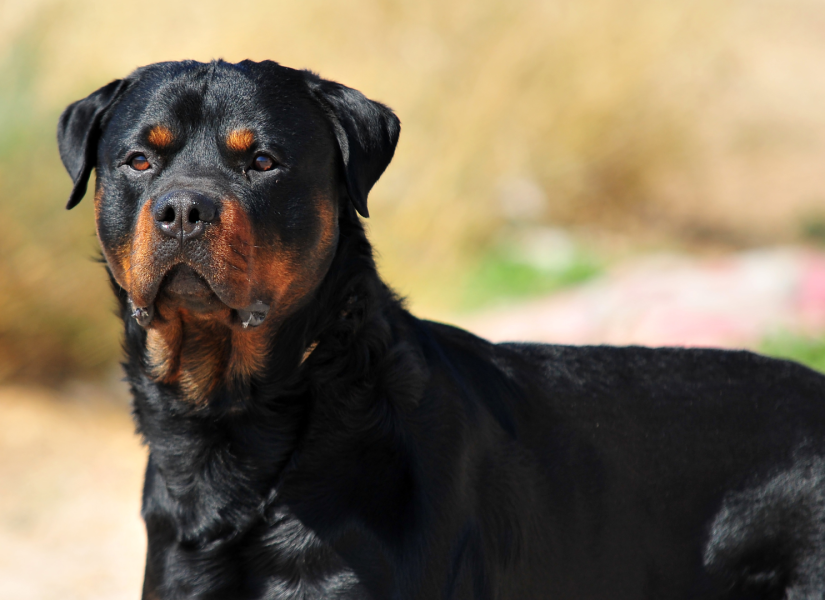
[[494, 341], [756, 347], [825, 333], [825, 254], [648, 257], [553, 296], [454, 319]]

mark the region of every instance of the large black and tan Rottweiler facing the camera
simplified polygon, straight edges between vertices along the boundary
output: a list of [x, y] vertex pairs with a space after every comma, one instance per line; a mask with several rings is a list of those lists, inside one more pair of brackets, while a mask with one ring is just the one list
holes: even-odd
[[356, 215], [398, 134], [271, 62], [61, 117], [150, 448], [143, 598], [823, 598], [825, 377], [412, 317]]

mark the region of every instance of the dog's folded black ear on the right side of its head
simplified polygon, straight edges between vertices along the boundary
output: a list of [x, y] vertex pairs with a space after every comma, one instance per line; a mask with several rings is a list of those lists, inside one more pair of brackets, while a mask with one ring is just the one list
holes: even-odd
[[369, 217], [367, 194], [392, 160], [401, 122], [388, 107], [357, 90], [313, 73], [306, 76], [310, 91], [332, 122], [350, 199], [362, 217]]

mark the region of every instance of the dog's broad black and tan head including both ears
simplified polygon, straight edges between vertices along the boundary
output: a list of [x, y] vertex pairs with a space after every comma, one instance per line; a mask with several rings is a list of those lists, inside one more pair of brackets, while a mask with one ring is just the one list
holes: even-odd
[[138, 322], [178, 310], [244, 328], [318, 286], [339, 211], [367, 216], [398, 133], [387, 107], [310, 72], [187, 61], [75, 102], [58, 142], [68, 208], [97, 171], [97, 235]]

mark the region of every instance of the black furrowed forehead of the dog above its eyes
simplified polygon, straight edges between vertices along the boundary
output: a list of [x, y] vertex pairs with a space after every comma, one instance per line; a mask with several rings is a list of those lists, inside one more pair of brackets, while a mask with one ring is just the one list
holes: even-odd
[[[175, 68], [177, 67], [177, 68]], [[178, 142], [249, 130], [276, 144], [325, 137], [328, 125], [299, 71], [278, 65], [158, 65], [136, 73], [106, 131], [124, 143], [161, 125]]]

